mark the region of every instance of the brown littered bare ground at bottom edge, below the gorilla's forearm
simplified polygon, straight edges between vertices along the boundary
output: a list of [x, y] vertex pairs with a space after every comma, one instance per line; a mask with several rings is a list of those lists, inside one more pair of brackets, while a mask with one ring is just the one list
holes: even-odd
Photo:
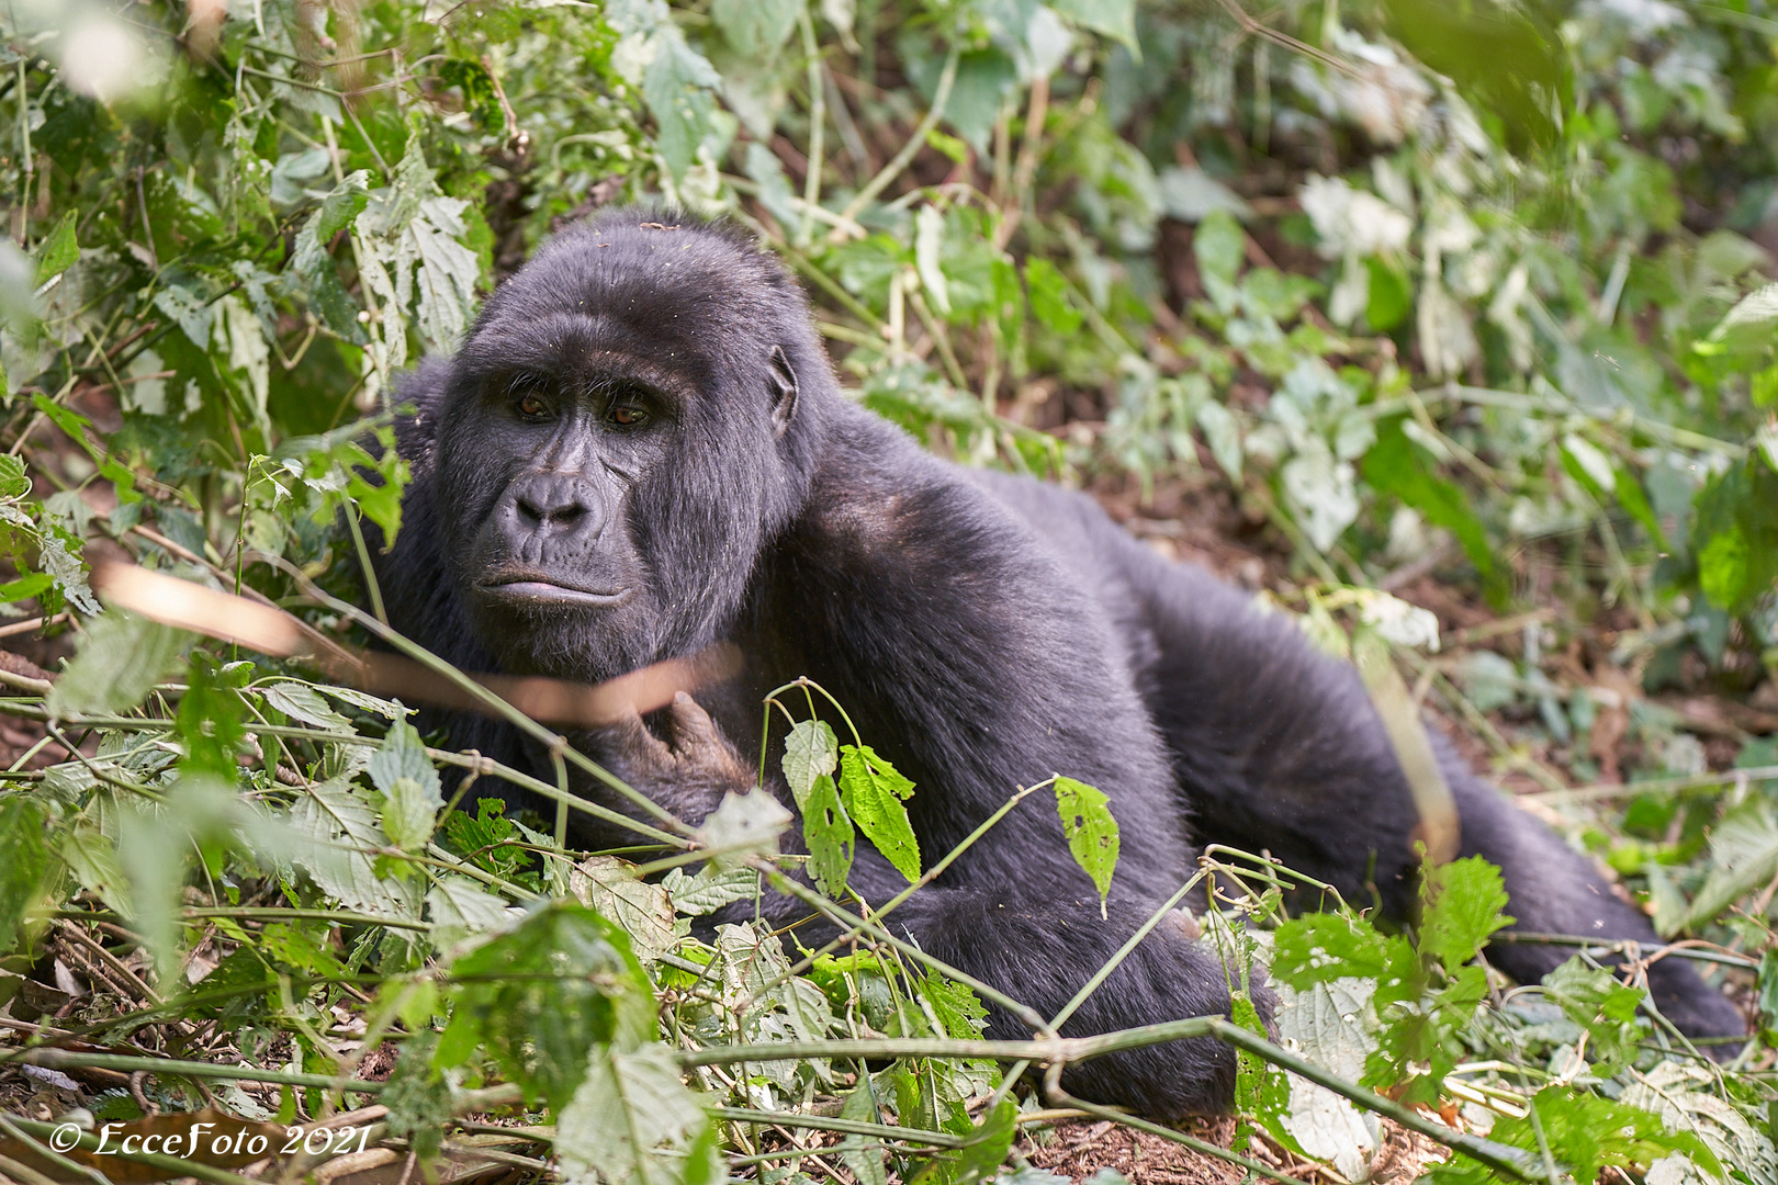
[[[1389, 1119], [1382, 1123], [1383, 1144], [1371, 1160], [1369, 1176], [1376, 1185], [1408, 1185], [1431, 1164], [1446, 1158], [1442, 1144]], [[1234, 1141], [1234, 1119], [1191, 1119], [1181, 1125], [1181, 1132], [1229, 1148]], [[1117, 1169], [1133, 1185], [1236, 1185], [1246, 1174], [1241, 1165], [1161, 1135], [1095, 1119], [1058, 1123], [1045, 1142], [1026, 1139], [1021, 1151], [1033, 1167], [1072, 1176], [1076, 1181], [1101, 1169]], [[1344, 1181], [1326, 1165], [1296, 1157], [1264, 1137], [1255, 1137], [1245, 1155], [1300, 1181]]]

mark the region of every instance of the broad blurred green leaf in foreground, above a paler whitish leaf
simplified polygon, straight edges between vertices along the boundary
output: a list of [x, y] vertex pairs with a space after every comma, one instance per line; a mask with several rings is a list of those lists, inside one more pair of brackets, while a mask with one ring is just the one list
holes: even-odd
[[573, 901], [541, 906], [452, 963], [450, 977], [459, 988], [437, 1064], [462, 1064], [480, 1039], [528, 1100], [557, 1110], [574, 1098], [594, 1046], [635, 1046], [654, 1030], [629, 938]]

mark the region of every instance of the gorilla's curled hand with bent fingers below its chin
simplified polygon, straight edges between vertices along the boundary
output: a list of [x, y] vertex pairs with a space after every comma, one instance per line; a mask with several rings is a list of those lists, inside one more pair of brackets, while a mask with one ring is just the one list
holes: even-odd
[[672, 741], [661, 741], [637, 712], [592, 734], [590, 748], [606, 769], [697, 826], [729, 791], [754, 789], [754, 773], [717, 721], [685, 691], [667, 709]]

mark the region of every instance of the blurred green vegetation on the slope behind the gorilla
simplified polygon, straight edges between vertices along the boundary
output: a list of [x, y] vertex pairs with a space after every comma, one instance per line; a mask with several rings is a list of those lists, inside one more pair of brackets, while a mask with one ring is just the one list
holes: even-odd
[[[354, 588], [340, 524], [398, 526], [402, 469], [368, 481], [357, 444], [393, 377], [553, 227], [645, 201], [756, 231], [843, 382], [935, 451], [1085, 485], [1335, 648], [1380, 631], [1664, 934], [1771, 949], [1766, 0], [11, 0], [0, 30], [0, 679], [27, 709], [85, 631], [112, 659], [62, 720], [178, 670], [343, 725], [254, 700], [276, 664], [82, 625], [89, 561], [295, 597], [267, 553]], [[7, 776], [80, 766], [30, 711]], [[66, 839], [116, 842], [96, 783], [0, 794], [18, 851], [50, 837], [0, 938], [50, 869], [100, 897], [188, 878], [105, 883], [117, 856]], [[1778, 961], [1735, 990], [1769, 1016]]]

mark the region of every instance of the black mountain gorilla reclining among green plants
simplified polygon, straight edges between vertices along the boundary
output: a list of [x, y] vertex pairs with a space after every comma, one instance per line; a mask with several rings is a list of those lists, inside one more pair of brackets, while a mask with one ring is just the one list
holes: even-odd
[[[658, 219], [619, 210], [557, 235], [489, 297], [453, 359], [402, 387], [418, 407], [400, 426], [414, 478], [379, 572], [396, 629], [466, 670], [574, 680], [733, 641], [741, 673], [681, 696], [654, 732], [573, 737], [690, 823], [754, 783], [761, 696], [798, 675], [914, 780], [928, 858], [1019, 785], [1060, 771], [1099, 787], [1122, 828], [1109, 920], [1040, 801], [893, 915], [1045, 1016], [1191, 876], [1197, 844], [1269, 849], [1350, 901], [1374, 885], [1389, 915], [1406, 913], [1415, 808], [1350, 666], [1161, 560], [1086, 496], [932, 457], [839, 391], [773, 258], [733, 229]], [[500, 725], [450, 728], [551, 776], [548, 755]], [[1449, 750], [1440, 764], [1462, 849], [1501, 867], [1520, 927], [1659, 942], [1586, 858]], [[574, 789], [624, 808], [590, 780]], [[574, 839], [629, 842], [597, 824]], [[875, 903], [905, 887], [869, 844], [850, 883]], [[768, 895], [765, 913], [789, 924], [807, 908]], [[1156, 929], [1065, 1032], [1227, 1013], [1225, 970], [1186, 929]], [[1566, 954], [1502, 943], [1488, 958], [1536, 981]], [[1648, 975], [1682, 1030], [1742, 1032], [1680, 959]], [[1021, 1036], [1006, 1014], [990, 1030]], [[1234, 1057], [1177, 1041], [1065, 1082], [1179, 1116], [1229, 1103]]]

